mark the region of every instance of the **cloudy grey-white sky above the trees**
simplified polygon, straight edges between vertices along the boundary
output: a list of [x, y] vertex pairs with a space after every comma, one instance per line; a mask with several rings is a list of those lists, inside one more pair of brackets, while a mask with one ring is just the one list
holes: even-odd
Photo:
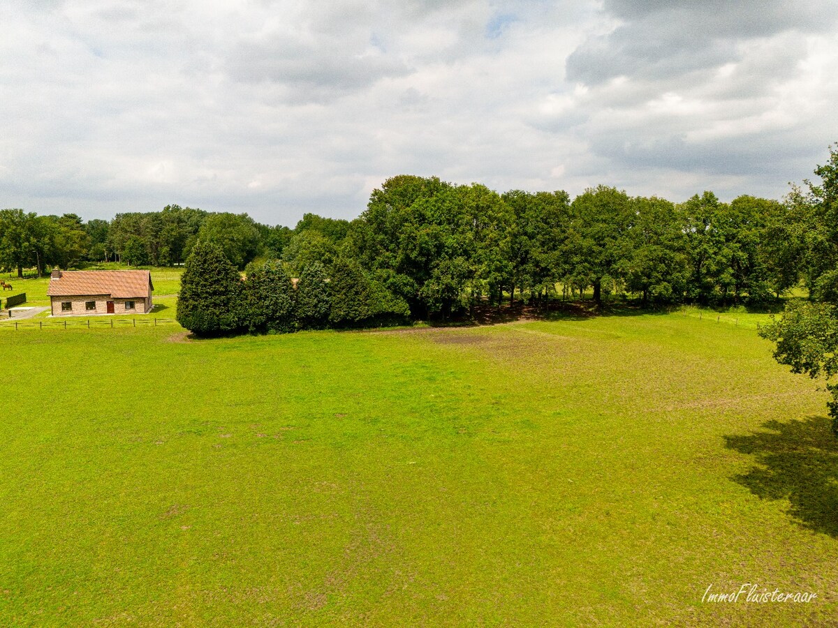
[[779, 198], [838, 141], [834, 0], [3, 0], [0, 206], [353, 218], [401, 173]]

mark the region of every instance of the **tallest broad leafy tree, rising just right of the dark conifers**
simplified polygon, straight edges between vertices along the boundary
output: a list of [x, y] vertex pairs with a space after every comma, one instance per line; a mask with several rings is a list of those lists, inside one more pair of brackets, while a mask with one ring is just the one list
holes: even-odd
[[349, 250], [414, 317], [447, 317], [508, 281], [511, 217], [482, 185], [391, 178], [350, 225]]

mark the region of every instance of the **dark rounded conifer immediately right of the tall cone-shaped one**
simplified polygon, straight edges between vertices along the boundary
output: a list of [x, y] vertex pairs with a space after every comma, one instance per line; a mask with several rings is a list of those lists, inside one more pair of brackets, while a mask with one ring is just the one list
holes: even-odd
[[279, 262], [251, 268], [243, 298], [244, 320], [251, 333], [296, 331], [294, 287]]

